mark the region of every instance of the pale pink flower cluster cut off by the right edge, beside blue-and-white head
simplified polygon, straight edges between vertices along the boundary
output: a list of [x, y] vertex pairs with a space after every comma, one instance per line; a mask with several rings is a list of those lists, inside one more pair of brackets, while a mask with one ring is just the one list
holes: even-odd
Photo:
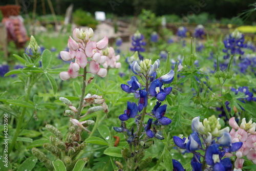
[[[252, 123], [252, 120], [246, 123], [245, 118], [243, 118], [239, 127], [237, 122], [234, 120], [234, 117], [230, 118], [228, 123], [232, 127], [232, 130], [230, 131], [232, 142], [243, 143], [243, 146], [236, 153], [237, 159], [234, 162], [236, 170], [241, 171], [245, 161], [245, 159], [242, 159], [243, 156], [246, 156], [248, 160], [251, 160], [256, 164], [256, 123]], [[231, 157], [232, 154], [227, 153], [226, 156]]]

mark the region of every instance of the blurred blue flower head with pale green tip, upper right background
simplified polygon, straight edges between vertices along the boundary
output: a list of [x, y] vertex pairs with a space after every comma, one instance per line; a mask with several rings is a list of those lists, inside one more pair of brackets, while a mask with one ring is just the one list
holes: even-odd
[[225, 49], [223, 52], [226, 53], [224, 59], [228, 59], [231, 55], [239, 54], [243, 55], [245, 48], [244, 35], [240, 33], [237, 29], [234, 30], [228, 37], [223, 41]]

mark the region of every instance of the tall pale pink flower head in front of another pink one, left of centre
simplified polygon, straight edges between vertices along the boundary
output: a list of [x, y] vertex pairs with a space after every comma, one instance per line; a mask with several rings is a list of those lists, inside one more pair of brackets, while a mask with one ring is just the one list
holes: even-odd
[[109, 38], [105, 36], [102, 40], [96, 42], [91, 41], [92, 36], [93, 30], [91, 28], [85, 31], [77, 28], [73, 30], [74, 39], [70, 36], [68, 41], [69, 52], [61, 51], [60, 57], [66, 61], [75, 59], [75, 62], [70, 63], [68, 72], [59, 73], [62, 80], [78, 77], [79, 69], [85, 68], [87, 63], [90, 63], [89, 68], [92, 74], [105, 77], [107, 71], [100, 68], [100, 65], [105, 63], [106, 56], [102, 56], [99, 51], [108, 47]]

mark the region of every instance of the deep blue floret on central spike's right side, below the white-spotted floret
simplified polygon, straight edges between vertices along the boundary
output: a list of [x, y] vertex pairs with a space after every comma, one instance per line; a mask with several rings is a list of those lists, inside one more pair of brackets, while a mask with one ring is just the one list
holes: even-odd
[[158, 120], [159, 123], [161, 123], [162, 125], [168, 125], [172, 122], [172, 120], [170, 120], [167, 117], [164, 117], [164, 114], [166, 112], [166, 104], [160, 106], [161, 103], [157, 101], [157, 104], [154, 106], [152, 113], [155, 115], [156, 119]]

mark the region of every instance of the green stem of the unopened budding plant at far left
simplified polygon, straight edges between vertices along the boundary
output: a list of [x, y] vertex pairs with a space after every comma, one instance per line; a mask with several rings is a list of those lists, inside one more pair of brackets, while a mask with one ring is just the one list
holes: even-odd
[[[32, 89], [32, 86], [33, 86], [33, 84], [31, 84], [31, 76], [30, 76], [30, 77], [28, 77], [27, 83], [26, 83], [26, 85], [25, 85], [25, 94], [26, 94], [26, 96], [25, 96], [25, 101], [26, 101], [26, 102], [29, 101], [29, 96], [30, 96], [30, 91], [31, 91], [31, 89]], [[19, 135], [19, 133], [20, 133], [20, 129], [21, 129], [21, 127], [22, 127], [22, 123], [23, 123], [23, 119], [24, 119], [26, 110], [27, 110], [27, 108], [24, 107], [22, 113], [21, 113], [20, 116], [18, 117], [18, 121], [17, 121], [18, 123], [17, 123], [17, 127], [16, 127], [16, 132], [15, 132], [14, 137], [13, 137], [13, 139], [12, 139], [10, 148], [9, 148], [9, 150], [8, 150], [8, 154], [11, 153], [11, 151], [12, 151], [12, 149], [13, 149], [15, 143], [16, 143], [16, 140], [17, 140], [18, 135]]]

